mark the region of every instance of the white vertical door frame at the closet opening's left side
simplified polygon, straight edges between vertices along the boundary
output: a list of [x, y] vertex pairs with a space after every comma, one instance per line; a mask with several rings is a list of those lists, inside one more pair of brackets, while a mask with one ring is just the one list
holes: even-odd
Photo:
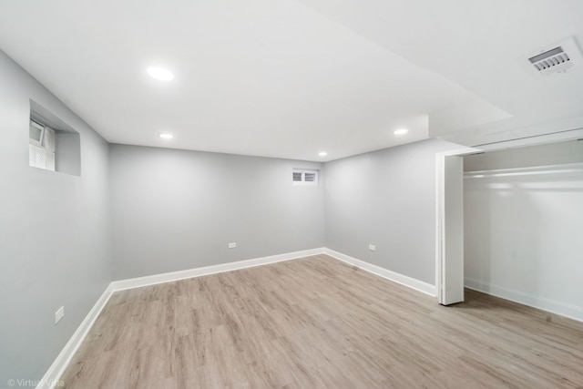
[[[445, 151], [435, 154], [435, 291], [437, 292], [437, 302], [440, 304], [449, 304], [453, 302], [463, 301], [464, 277], [463, 277], [463, 258], [462, 263], [455, 261], [445, 261], [445, 157], [458, 156], [463, 157], [468, 154], [475, 154], [481, 152], [479, 148], [458, 148], [451, 151]], [[460, 180], [463, 180], [464, 172], [460, 173]], [[463, 211], [463, 202], [459, 204], [462, 207], [459, 212]], [[463, 223], [463, 220], [461, 221]], [[463, 254], [462, 254], [463, 257]], [[462, 276], [454, 279], [446, 279], [446, 266], [462, 266]], [[451, 272], [451, 271], [450, 271]], [[458, 297], [457, 301], [445, 298], [445, 282], [449, 282], [447, 287], [450, 290], [461, 290], [461, 300]], [[455, 284], [452, 284], [455, 283]]]

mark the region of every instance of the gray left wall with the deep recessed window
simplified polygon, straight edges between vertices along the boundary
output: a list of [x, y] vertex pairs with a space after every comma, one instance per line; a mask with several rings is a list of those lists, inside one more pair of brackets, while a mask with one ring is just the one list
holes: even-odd
[[[0, 387], [40, 380], [111, 281], [107, 142], [0, 51]], [[80, 177], [28, 166], [30, 100], [81, 137]], [[65, 317], [55, 325], [55, 312]]]

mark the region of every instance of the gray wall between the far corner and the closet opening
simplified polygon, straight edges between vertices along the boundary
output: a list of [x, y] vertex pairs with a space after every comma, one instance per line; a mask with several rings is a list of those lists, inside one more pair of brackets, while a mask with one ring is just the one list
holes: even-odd
[[435, 285], [435, 153], [458, 148], [428, 139], [326, 163], [326, 247]]

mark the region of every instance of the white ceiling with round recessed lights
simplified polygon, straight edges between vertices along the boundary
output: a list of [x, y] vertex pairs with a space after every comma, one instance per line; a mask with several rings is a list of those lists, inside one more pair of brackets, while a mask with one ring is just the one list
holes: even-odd
[[0, 49], [110, 142], [331, 160], [578, 126], [583, 67], [524, 61], [582, 22], [578, 0], [0, 0]]

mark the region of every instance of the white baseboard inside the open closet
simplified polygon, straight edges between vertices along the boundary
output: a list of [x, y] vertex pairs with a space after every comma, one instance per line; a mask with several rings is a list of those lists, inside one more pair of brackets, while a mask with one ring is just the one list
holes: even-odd
[[583, 322], [583, 308], [576, 305], [571, 305], [565, 302], [557, 302], [556, 300], [546, 299], [544, 297], [534, 296], [525, 292], [513, 291], [511, 289], [495, 285], [490, 282], [482, 282], [473, 278], [466, 277], [464, 279], [465, 288], [472, 289], [477, 292], [491, 294], [501, 299], [509, 300], [511, 302], [518, 302], [529, 307], [537, 308], [539, 310], [557, 313], [561, 316], [568, 317], [578, 322]]

